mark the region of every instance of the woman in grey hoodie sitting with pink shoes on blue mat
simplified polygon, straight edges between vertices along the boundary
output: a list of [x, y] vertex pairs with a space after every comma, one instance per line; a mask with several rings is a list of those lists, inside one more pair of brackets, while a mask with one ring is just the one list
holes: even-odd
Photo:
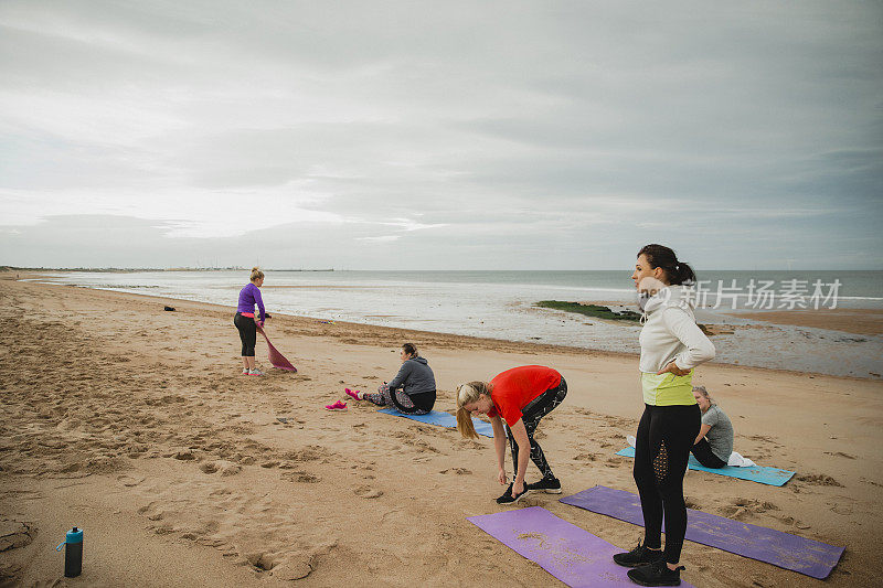
[[355, 400], [371, 400], [377, 406], [389, 406], [406, 415], [426, 415], [435, 406], [435, 374], [429, 364], [417, 354], [412, 343], [402, 345], [398, 354], [402, 367], [392, 382], [383, 383], [375, 393], [351, 392]]

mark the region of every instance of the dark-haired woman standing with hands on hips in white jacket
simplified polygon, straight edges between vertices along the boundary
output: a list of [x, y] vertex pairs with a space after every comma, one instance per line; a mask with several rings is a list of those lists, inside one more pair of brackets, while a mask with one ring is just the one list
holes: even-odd
[[[631, 275], [638, 290], [645, 409], [635, 448], [635, 482], [643, 512], [643, 543], [614, 562], [634, 567], [628, 577], [641, 586], [678, 586], [687, 532], [683, 477], [699, 434], [701, 413], [693, 397], [693, 368], [714, 357], [714, 345], [696, 325], [684, 286], [695, 282], [692, 268], [662, 245], [638, 252]], [[664, 513], [666, 549], [661, 549]]]

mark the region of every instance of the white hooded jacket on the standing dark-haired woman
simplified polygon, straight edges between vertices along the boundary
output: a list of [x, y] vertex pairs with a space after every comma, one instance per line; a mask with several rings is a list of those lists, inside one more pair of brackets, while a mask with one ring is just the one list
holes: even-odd
[[643, 307], [640, 371], [656, 374], [672, 360], [681, 370], [692, 370], [714, 359], [714, 344], [696, 325], [693, 301], [683, 286], [668, 286]]

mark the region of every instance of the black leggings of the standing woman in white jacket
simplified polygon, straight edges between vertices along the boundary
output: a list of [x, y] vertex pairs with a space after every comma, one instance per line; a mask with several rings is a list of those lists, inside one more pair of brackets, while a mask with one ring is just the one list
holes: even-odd
[[635, 447], [635, 482], [641, 496], [643, 543], [661, 546], [662, 515], [666, 517], [666, 562], [681, 558], [687, 533], [683, 475], [690, 449], [699, 435], [699, 405], [646, 405], [638, 425]]

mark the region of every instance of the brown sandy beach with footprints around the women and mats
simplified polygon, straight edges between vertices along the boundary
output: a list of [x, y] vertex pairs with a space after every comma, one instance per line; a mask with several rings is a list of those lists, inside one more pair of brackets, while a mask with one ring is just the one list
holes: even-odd
[[[538, 438], [565, 493], [635, 491], [631, 461], [614, 456], [642, 407], [635, 356], [278, 316], [268, 332], [300, 372], [247, 377], [230, 308], [173, 301], [163, 312], [163, 299], [4, 277], [2, 585], [558, 585], [466, 521], [500, 510], [489, 439], [363, 404], [321, 408], [344, 386], [389, 379], [406, 340], [435, 370], [443, 410], [460, 382], [556, 367], [570, 393]], [[698, 382], [733, 419], [737, 451], [798, 475], [773, 488], [690, 472], [690, 505], [847, 552], [821, 582], [688, 543], [684, 578], [879, 584], [883, 384], [715, 364]], [[556, 499], [525, 505], [624, 548], [641, 536]], [[53, 547], [72, 525], [85, 530], [84, 575], [66, 580]]]

